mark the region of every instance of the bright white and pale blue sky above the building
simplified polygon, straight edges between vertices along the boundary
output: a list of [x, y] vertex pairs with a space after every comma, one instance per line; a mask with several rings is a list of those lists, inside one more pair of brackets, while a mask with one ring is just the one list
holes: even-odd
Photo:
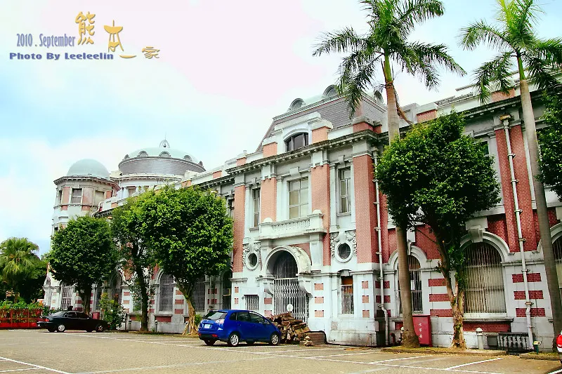
[[[412, 40], [446, 44], [471, 72], [493, 53], [463, 51], [459, 28], [491, 18], [495, 1], [443, 3], [445, 15], [417, 27]], [[538, 34], [559, 36], [561, 1], [540, 4]], [[93, 44], [39, 46], [40, 34], [76, 36], [76, 43], [80, 12], [96, 15]], [[254, 152], [273, 116], [336, 81], [341, 55], [312, 56], [322, 33], [365, 32], [365, 15], [355, 0], [0, 0], [0, 241], [24, 236], [48, 251], [53, 180], [79, 159], [115, 171], [125, 154], [164, 138], [208, 169]], [[64, 60], [65, 53], [107, 53], [103, 26], [113, 21], [123, 27], [124, 51], [117, 48], [115, 60]], [[31, 34], [32, 46], [17, 46], [17, 34]], [[145, 58], [148, 46], [159, 58]], [[42, 59], [11, 60], [10, 53]], [[424, 105], [470, 82], [470, 74], [443, 72], [439, 88], [428, 91], [401, 73], [396, 88], [403, 105]]]

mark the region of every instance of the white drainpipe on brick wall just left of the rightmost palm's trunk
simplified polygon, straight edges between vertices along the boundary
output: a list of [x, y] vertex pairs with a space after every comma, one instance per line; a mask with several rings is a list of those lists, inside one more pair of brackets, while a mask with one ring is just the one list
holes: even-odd
[[507, 143], [507, 158], [509, 159], [509, 171], [511, 173], [511, 189], [514, 192], [514, 201], [515, 201], [515, 216], [517, 221], [517, 236], [519, 241], [519, 252], [521, 252], [521, 272], [523, 273], [523, 284], [525, 286], [525, 317], [527, 318], [527, 333], [529, 335], [529, 346], [532, 344], [532, 325], [531, 325], [531, 305], [532, 302], [529, 298], [529, 284], [527, 282], [527, 265], [525, 262], [525, 250], [523, 248], [523, 234], [521, 232], [521, 213], [523, 211], [519, 209], [519, 201], [517, 197], [517, 183], [518, 180], [515, 179], [515, 171], [514, 171], [514, 157], [515, 154], [511, 152], [511, 138], [509, 137], [509, 119], [511, 116], [509, 114], [500, 116], [499, 120], [502, 121], [504, 125], [504, 132], [505, 132], [505, 140]]

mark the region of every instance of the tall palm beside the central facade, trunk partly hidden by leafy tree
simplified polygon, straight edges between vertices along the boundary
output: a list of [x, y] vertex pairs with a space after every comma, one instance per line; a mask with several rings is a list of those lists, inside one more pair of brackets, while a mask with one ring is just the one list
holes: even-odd
[[[339, 93], [348, 100], [351, 116], [360, 105], [362, 95], [368, 88], [380, 92], [386, 89], [388, 116], [388, 139], [399, 137], [398, 95], [394, 88], [393, 66], [400, 71], [419, 76], [428, 88], [439, 84], [436, 65], [452, 72], [464, 74], [464, 70], [447, 53], [443, 44], [426, 44], [408, 41], [414, 26], [443, 15], [443, 3], [438, 0], [362, 0], [369, 13], [369, 32], [359, 35], [351, 27], [324, 35], [316, 46], [313, 55], [322, 53], [350, 53], [339, 67]], [[384, 86], [375, 84], [378, 69], [382, 69]], [[398, 251], [398, 270], [400, 284], [410, 284], [407, 262], [407, 239], [405, 228], [407, 220], [394, 218]], [[400, 292], [403, 306], [404, 334], [403, 344], [408, 347], [419, 346], [412, 319], [412, 295], [409, 287]]]

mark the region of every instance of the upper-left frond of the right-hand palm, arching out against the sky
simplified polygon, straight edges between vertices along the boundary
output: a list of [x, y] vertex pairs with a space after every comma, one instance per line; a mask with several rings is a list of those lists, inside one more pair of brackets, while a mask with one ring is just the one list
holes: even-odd
[[495, 49], [513, 49], [504, 32], [488, 24], [485, 20], [480, 20], [471, 23], [468, 27], [463, 27], [459, 34], [459, 39], [459, 44], [469, 51], [473, 51], [480, 44], [488, 44], [488, 46]]

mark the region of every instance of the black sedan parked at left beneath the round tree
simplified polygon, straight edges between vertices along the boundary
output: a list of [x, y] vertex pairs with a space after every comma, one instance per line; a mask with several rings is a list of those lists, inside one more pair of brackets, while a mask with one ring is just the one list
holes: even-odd
[[37, 326], [46, 328], [49, 333], [64, 333], [66, 330], [86, 330], [89, 333], [101, 333], [109, 328], [109, 323], [101, 319], [93, 319], [80, 312], [56, 312], [48, 316], [40, 316]]

